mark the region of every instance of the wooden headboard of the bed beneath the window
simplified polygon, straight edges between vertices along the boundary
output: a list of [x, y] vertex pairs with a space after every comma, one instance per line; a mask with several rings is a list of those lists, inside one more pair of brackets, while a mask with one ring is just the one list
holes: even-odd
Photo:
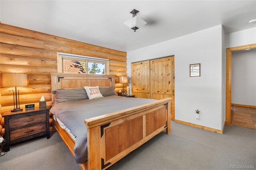
[[[114, 75], [79, 74], [79, 73], [50, 73], [52, 90], [80, 88], [84, 86], [115, 87]], [[52, 104], [54, 94], [52, 94]]]

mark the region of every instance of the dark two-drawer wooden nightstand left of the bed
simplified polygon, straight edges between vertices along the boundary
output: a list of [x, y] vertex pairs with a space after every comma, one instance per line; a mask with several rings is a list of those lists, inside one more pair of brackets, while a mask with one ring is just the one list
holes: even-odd
[[50, 138], [50, 107], [23, 109], [19, 112], [6, 111], [4, 117], [5, 151], [10, 144], [45, 135]]

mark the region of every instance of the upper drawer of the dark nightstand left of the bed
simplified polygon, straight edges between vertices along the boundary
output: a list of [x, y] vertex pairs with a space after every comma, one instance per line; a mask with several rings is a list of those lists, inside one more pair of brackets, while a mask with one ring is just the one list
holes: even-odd
[[46, 113], [9, 119], [9, 129], [46, 122]]

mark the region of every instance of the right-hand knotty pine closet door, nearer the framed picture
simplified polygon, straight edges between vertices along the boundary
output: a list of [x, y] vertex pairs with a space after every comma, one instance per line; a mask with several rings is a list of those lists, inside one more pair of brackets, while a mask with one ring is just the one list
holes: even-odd
[[174, 56], [150, 60], [150, 98], [172, 97], [171, 119], [174, 117]]

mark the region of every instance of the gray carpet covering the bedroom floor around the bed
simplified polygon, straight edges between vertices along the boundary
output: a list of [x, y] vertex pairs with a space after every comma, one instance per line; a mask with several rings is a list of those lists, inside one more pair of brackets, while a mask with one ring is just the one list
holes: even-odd
[[[172, 121], [172, 133], [161, 132], [111, 166], [110, 170], [230, 169], [254, 165], [256, 130], [225, 126], [224, 134]], [[1, 170], [79, 170], [57, 132], [50, 139], [38, 137], [11, 145], [0, 157]]]

